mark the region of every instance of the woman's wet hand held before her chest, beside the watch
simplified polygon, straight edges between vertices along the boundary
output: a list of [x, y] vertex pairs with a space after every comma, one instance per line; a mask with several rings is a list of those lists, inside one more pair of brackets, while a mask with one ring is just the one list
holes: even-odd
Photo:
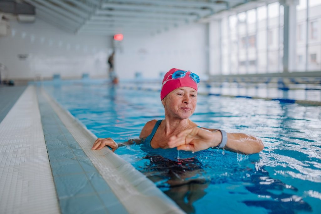
[[178, 150], [200, 151], [216, 147], [222, 141], [220, 132], [211, 132], [206, 129], [194, 127], [186, 129], [176, 136], [169, 138], [169, 148], [177, 147]]

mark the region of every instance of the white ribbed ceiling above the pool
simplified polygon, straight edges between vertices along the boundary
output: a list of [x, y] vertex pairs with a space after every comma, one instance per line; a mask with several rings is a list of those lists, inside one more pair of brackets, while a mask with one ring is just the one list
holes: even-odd
[[76, 34], [160, 33], [248, 0], [23, 0], [36, 17]]

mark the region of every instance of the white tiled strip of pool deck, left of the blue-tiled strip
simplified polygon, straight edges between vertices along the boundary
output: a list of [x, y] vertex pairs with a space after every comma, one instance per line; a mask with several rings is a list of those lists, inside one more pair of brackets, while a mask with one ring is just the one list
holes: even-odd
[[59, 213], [35, 88], [0, 124], [0, 213]]

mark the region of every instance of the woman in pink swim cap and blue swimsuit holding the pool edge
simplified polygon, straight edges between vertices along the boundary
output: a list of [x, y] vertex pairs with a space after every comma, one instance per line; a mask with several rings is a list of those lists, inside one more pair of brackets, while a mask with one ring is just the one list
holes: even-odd
[[[199, 127], [189, 119], [195, 111], [198, 83], [198, 75], [190, 71], [172, 68], [165, 74], [160, 91], [165, 119], [151, 120], [144, 125], [139, 136], [145, 139], [143, 143], [153, 149], [176, 147], [192, 152], [214, 147], [243, 154], [263, 150], [264, 145], [257, 137]], [[115, 150], [117, 143], [111, 138], [98, 138], [92, 150], [104, 146]]]

